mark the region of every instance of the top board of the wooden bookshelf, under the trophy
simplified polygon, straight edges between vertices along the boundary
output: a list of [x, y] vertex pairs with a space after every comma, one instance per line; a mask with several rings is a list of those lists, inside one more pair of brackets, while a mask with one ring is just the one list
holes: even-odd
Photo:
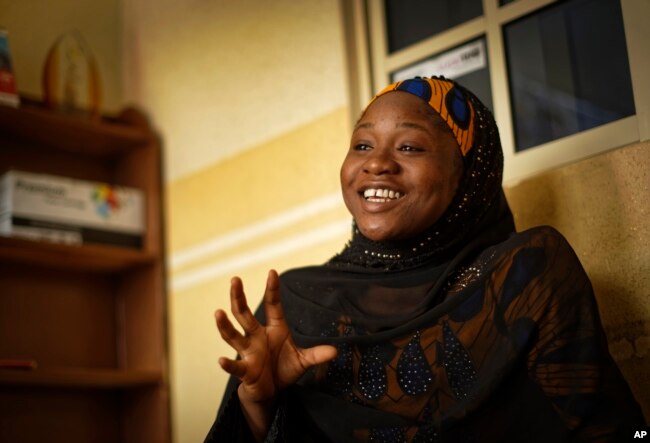
[[61, 114], [29, 104], [19, 108], [0, 106], [0, 133], [33, 144], [97, 156], [111, 156], [144, 146], [152, 136], [140, 126]]

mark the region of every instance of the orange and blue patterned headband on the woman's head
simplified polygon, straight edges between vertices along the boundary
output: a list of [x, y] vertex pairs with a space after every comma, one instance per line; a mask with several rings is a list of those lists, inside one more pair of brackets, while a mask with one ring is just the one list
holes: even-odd
[[370, 103], [392, 91], [408, 92], [427, 102], [451, 128], [463, 157], [472, 149], [474, 107], [452, 81], [438, 77], [415, 77], [399, 81], [382, 89]]

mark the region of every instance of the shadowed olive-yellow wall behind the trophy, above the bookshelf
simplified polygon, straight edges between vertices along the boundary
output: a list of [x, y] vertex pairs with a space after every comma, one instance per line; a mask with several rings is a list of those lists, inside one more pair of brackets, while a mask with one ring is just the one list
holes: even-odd
[[9, 31], [18, 90], [43, 94], [43, 65], [59, 36], [81, 33], [99, 67], [102, 108], [122, 105], [121, 0], [0, 0], [0, 27]]

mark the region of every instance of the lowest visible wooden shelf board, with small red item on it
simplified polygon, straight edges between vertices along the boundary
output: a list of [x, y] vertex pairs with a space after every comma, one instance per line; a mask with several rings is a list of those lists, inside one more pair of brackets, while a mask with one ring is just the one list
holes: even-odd
[[126, 389], [155, 386], [163, 382], [160, 371], [43, 368], [0, 369], [0, 385], [90, 389]]

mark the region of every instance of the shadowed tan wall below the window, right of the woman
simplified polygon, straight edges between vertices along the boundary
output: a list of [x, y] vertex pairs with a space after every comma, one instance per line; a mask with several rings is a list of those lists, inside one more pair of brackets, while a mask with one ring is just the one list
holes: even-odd
[[585, 267], [612, 356], [650, 419], [650, 142], [558, 168], [505, 193], [518, 230], [550, 225]]

